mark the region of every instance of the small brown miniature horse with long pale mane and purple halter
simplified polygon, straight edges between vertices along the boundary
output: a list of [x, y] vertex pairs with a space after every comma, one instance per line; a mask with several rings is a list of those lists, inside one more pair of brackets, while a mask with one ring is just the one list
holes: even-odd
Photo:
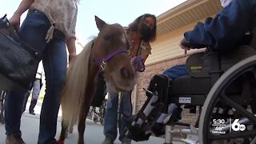
[[64, 143], [67, 127], [78, 119], [78, 143], [84, 143], [86, 116], [90, 109], [98, 71], [104, 71], [106, 82], [114, 91], [133, 90], [135, 71], [127, 52], [130, 42], [119, 24], [109, 25], [95, 16], [100, 31], [81, 54], [71, 62], [62, 89], [62, 132], [58, 143]]

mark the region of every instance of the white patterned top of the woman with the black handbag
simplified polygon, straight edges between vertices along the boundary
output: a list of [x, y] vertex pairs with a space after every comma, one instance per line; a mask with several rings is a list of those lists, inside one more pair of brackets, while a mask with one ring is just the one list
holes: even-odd
[[61, 30], [66, 39], [75, 38], [75, 26], [78, 15], [76, 0], [34, 0], [30, 9], [46, 14], [51, 26], [46, 35], [47, 42], [53, 37], [54, 29]]

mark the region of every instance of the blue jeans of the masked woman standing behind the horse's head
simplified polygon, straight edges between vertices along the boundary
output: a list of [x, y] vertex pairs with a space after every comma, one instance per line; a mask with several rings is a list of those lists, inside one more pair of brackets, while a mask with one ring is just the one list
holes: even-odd
[[130, 98], [131, 91], [122, 93], [119, 106], [119, 118], [121, 118], [121, 120], [118, 122], [118, 93], [113, 92], [108, 84], [106, 84], [106, 87], [109, 94], [106, 102], [106, 114], [103, 133], [106, 137], [115, 139], [117, 138], [119, 126], [119, 140], [121, 142], [124, 140], [130, 140], [128, 138], [124, 138], [124, 134], [122, 134], [122, 132], [126, 128], [127, 122], [129, 118], [131, 118], [132, 114], [132, 105]]

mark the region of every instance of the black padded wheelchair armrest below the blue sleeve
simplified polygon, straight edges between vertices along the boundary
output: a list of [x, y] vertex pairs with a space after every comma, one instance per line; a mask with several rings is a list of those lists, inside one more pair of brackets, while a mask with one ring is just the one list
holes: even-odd
[[[211, 55], [217, 54], [216, 57]], [[195, 78], [210, 78], [212, 68], [216, 63], [220, 67], [220, 72], [225, 72], [230, 69], [234, 64], [242, 61], [245, 58], [249, 58], [256, 54], [256, 50], [251, 46], [238, 46], [235, 50], [228, 51], [208, 51], [191, 54], [186, 59], [186, 70]], [[213, 59], [214, 58], [214, 59]]]

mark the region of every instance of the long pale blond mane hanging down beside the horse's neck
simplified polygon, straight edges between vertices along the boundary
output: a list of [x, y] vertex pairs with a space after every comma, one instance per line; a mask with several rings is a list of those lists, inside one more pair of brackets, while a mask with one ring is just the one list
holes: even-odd
[[80, 114], [83, 98], [86, 93], [90, 50], [93, 41], [74, 59], [67, 70], [66, 82], [61, 93], [62, 122], [68, 126], [76, 122]]

